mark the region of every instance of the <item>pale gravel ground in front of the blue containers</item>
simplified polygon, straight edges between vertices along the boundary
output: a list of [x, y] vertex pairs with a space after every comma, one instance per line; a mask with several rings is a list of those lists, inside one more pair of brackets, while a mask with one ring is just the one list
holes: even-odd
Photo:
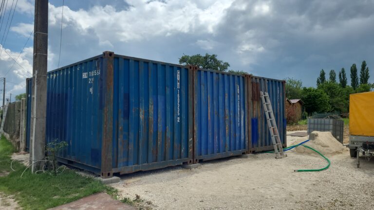
[[192, 170], [171, 167], [123, 175], [112, 186], [124, 197], [140, 196], [156, 210], [372, 209], [374, 161], [362, 158], [357, 169], [348, 151], [328, 158], [328, 170], [295, 173], [322, 168], [326, 161], [292, 151], [282, 159], [273, 154], [230, 157]]

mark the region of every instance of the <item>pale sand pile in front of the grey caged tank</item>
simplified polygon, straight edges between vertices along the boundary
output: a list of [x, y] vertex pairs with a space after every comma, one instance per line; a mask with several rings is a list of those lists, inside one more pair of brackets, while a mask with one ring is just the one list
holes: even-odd
[[[316, 135], [315, 140], [310, 140], [306, 142], [304, 145], [310, 146], [323, 155], [334, 155], [339, 154], [347, 150], [345, 146], [343, 146], [339, 141], [337, 141], [330, 132], [320, 132], [320, 131], [313, 131]], [[298, 140], [294, 142], [293, 145], [301, 143], [303, 140]], [[298, 146], [296, 149], [293, 149], [297, 153], [305, 153], [305, 154], [316, 154], [314, 151], [303, 147]]]

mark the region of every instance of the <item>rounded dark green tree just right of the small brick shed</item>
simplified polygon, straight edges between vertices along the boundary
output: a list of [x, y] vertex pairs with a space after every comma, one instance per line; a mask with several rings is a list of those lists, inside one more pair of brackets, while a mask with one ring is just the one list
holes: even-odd
[[311, 115], [313, 112], [328, 112], [330, 110], [329, 97], [317, 88], [302, 88], [302, 101], [305, 111]]

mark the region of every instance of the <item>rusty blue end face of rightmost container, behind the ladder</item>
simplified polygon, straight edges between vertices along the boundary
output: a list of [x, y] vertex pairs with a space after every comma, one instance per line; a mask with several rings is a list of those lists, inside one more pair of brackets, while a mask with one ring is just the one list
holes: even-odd
[[286, 146], [285, 117], [285, 82], [263, 77], [248, 76], [249, 110], [250, 110], [250, 151], [261, 152], [273, 150], [273, 142], [267, 127], [267, 120], [262, 107], [260, 91], [269, 93], [271, 105], [283, 146]]

